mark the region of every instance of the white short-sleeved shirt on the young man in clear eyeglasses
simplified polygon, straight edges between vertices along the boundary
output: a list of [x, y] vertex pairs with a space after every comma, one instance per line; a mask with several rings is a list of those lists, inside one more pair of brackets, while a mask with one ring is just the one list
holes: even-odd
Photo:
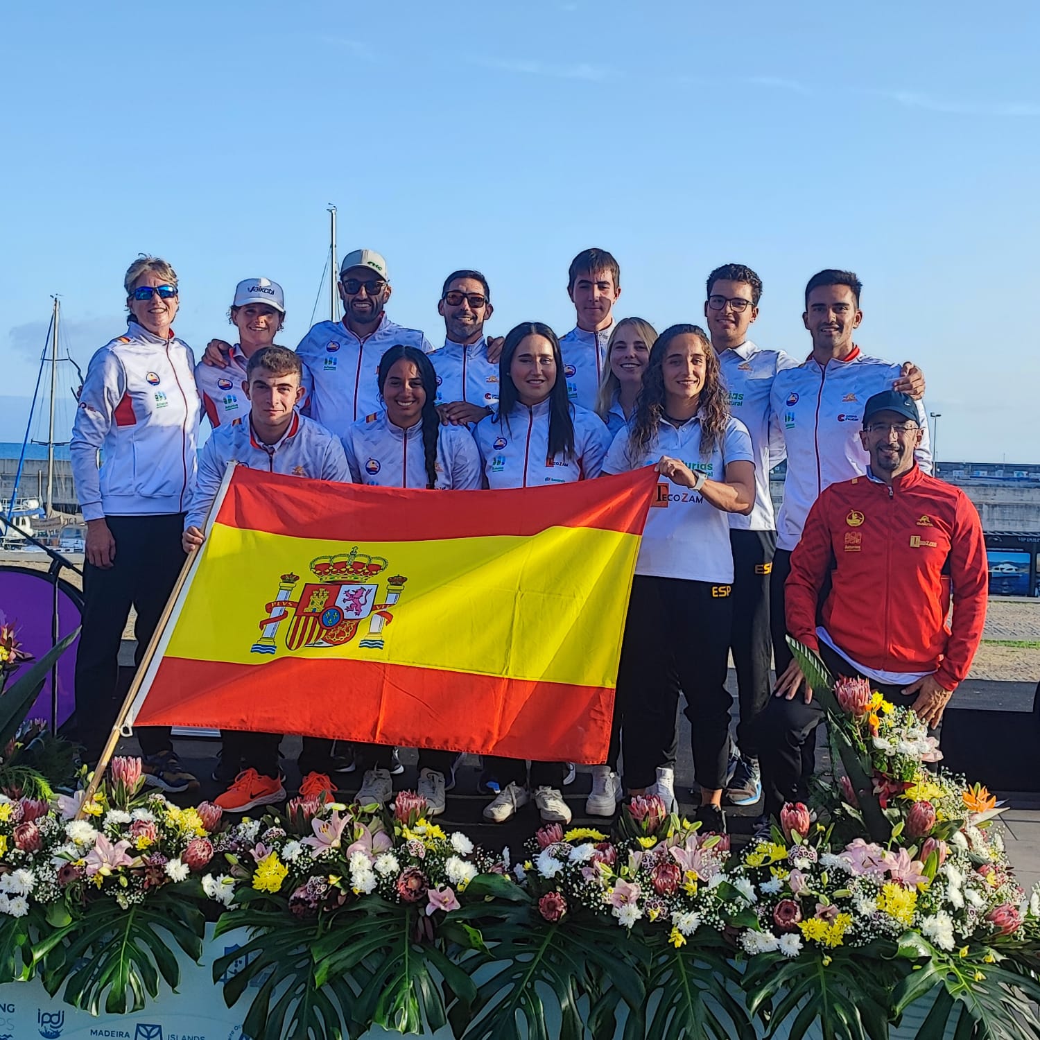
[[747, 516], [729, 514], [729, 525], [737, 530], [776, 530], [770, 470], [783, 460], [785, 451], [770, 393], [777, 372], [798, 364], [789, 354], [762, 349], [750, 339], [719, 355], [723, 381], [729, 389], [729, 410], [748, 427], [755, 453], [755, 508]]

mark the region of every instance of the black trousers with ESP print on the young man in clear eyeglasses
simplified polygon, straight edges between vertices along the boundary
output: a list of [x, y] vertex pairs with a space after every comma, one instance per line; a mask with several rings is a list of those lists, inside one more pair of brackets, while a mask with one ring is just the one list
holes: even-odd
[[736, 743], [745, 758], [757, 758], [754, 723], [769, 703], [772, 690], [770, 577], [777, 532], [730, 529], [729, 544], [733, 550], [733, 626], [729, 645], [740, 700]]

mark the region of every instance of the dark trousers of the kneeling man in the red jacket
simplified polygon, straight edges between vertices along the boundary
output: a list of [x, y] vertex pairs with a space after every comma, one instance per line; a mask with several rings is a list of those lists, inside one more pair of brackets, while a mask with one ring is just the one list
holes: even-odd
[[[866, 678], [826, 644], [820, 645], [820, 656], [835, 678], [849, 676]], [[902, 686], [870, 680], [874, 690], [896, 707], [910, 707], [916, 694], [907, 696]], [[774, 697], [758, 717], [762, 790], [765, 794], [765, 814], [779, 814], [784, 802], [795, 799], [803, 779], [803, 749], [814, 745], [816, 727], [824, 720], [824, 708], [815, 699], [808, 704], [800, 691], [792, 700]], [[937, 730], [929, 730], [933, 736]]]

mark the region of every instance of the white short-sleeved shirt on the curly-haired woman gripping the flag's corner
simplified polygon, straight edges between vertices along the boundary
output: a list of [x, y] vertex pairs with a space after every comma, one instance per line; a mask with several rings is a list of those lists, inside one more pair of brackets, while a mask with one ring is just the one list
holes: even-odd
[[[701, 421], [695, 415], [678, 430], [661, 421], [647, 451], [632, 458], [629, 431], [622, 430], [603, 463], [604, 473], [625, 473], [651, 466], [661, 456], [700, 470], [710, 480], [725, 480], [731, 462], [754, 463], [751, 436], [738, 419], [731, 418], [707, 459], [701, 458]], [[729, 584], [733, 580], [733, 553], [729, 545], [729, 514], [709, 505], [692, 488], [661, 477], [647, 516], [635, 573], [661, 578], [684, 578]]]

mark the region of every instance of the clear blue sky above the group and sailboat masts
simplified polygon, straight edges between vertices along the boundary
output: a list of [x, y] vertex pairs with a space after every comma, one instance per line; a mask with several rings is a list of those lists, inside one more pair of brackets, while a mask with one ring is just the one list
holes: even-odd
[[56, 0], [0, 19], [0, 440], [21, 440], [49, 294], [85, 365], [123, 329], [138, 252], [177, 268], [197, 353], [260, 275], [293, 345], [333, 202], [340, 255], [384, 253], [390, 315], [435, 341], [456, 267], [488, 275], [494, 332], [566, 331], [567, 265], [600, 245], [619, 316], [658, 330], [699, 319], [711, 267], [750, 264], [755, 339], [803, 354], [806, 279], [852, 267], [858, 342], [925, 369], [942, 459], [1040, 453], [1040, 5]]

